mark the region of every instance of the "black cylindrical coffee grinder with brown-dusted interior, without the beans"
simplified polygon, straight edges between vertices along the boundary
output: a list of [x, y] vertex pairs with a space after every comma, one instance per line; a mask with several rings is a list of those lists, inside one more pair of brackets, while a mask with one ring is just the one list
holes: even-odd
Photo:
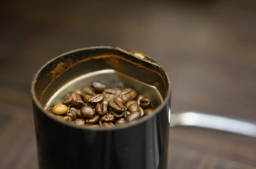
[[[75, 126], [45, 111], [53, 99], [93, 80], [154, 97], [156, 113], [105, 129]], [[31, 93], [39, 169], [167, 168], [171, 82], [163, 67], [145, 54], [112, 47], [70, 51], [38, 70]]]

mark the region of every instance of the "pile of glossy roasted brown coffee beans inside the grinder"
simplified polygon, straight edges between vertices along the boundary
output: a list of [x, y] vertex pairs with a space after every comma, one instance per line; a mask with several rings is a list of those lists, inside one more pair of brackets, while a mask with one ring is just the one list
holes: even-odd
[[88, 127], [114, 127], [153, 113], [151, 100], [132, 88], [108, 88], [101, 82], [67, 94], [47, 112], [63, 121]]

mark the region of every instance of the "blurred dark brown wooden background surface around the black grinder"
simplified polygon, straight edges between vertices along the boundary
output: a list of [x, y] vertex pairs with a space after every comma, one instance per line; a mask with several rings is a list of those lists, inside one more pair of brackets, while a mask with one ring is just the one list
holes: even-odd
[[[172, 113], [256, 120], [256, 1], [0, 1], [0, 168], [37, 169], [35, 72], [64, 52], [107, 45], [154, 58]], [[256, 138], [173, 127], [169, 169], [255, 169]]]

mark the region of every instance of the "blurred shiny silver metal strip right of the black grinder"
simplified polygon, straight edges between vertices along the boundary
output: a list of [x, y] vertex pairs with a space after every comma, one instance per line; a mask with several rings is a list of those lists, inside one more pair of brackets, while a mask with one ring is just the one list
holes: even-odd
[[171, 114], [170, 127], [175, 126], [194, 126], [256, 137], [255, 121], [205, 113], [185, 112]]

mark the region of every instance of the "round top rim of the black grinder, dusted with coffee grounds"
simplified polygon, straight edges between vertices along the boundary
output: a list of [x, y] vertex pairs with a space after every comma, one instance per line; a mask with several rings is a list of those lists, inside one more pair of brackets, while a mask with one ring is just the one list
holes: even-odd
[[[50, 62], [53, 62], [55, 61], [56, 59], [62, 57], [62, 56], [65, 56], [67, 54], [72, 54], [72, 53], [75, 53], [75, 52], [79, 52], [79, 51], [84, 51], [84, 50], [90, 50], [90, 49], [113, 49], [113, 50], [116, 50], [116, 51], [121, 51], [123, 53], [126, 53], [128, 55], [131, 55], [131, 56], [134, 56], [138, 59], [142, 59], [143, 58], [141, 56], [145, 56], [147, 58], [149, 58], [151, 61], [153, 62], [150, 62], [151, 64], [153, 65], [156, 65], [157, 67], [161, 68], [164, 70], [165, 72], [165, 76], [167, 78], [167, 81], [168, 81], [168, 92], [167, 92], [167, 96], [166, 98], [163, 100], [163, 103], [160, 104], [157, 108], [154, 109], [154, 111], [156, 113], [152, 114], [152, 115], [148, 115], [148, 116], [145, 116], [143, 118], [140, 118], [139, 120], [137, 120], [136, 122], [134, 123], [129, 123], [129, 124], [125, 124], [125, 125], [118, 125], [118, 126], [115, 126], [113, 128], [104, 128], [104, 127], [101, 127], [101, 128], [98, 128], [98, 127], [95, 127], [95, 128], [90, 128], [90, 127], [87, 127], [87, 126], [76, 126], [76, 125], [73, 125], [73, 124], [70, 124], [70, 123], [67, 123], [65, 121], [61, 121], [57, 118], [54, 118], [52, 117], [51, 115], [49, 115], [49, 113], [47, 113], [46, 110], [44, 110], [44, 106], [38, 101], [36, 95], [35, 95], [35, 82], [37, 81], [37, 78], [38, 78], [38, 75], [41, 73], [41, 70], [43, 70]], [[136, 54], [136, 55], [135, 55]], [[145, 61], [145, 60], [144, 60]], [[32, 95], [32, 101], [33, 103], [38, 107], [39, 110], [41, 110], [41, 113], [43, 113], [44, 115], [48, 116], [49, 118], [51, 118], [52, 120], [55, 120], [56, 122], [60, 123], [60, 124], [63, 124], [63, 125], [66, 125], [68, 127], [73, 127], [75, 129], [78, 129], [78, 130], [89, 130], [89, 131], [113, 131], [113, 130], [120, 130], [120, 129], [126, 129], [126, 128], [129, 128], [129, 127], [133, 127], [133, 126], [136, 126], [136, 125], [139, 125], [139, 124], [142, 124], [143, 122], [147, 121], [148, 119], [150, 118], [153, 118], [154, 116], [156, 116], [158, 113], [160, 113], [160, 110], [162, 110], [166, 104], [168, 104], [168, 101], [171, 97], [171, 79], [168, 75], [168, 73], [166, 72], [166, 70], [163, 68], [162, 65], [160, 65], [159, 63], [155, 62], [154, 59], [152, 59], [151, 57], [145, 55], [145, 54], [142, 54], [140, 52], [137, 52], [137, 51], [133, 51], [133, 50], [125, 50], [123, 48], [114, 48], [114, 47], [111, 47], [111, 46], [96, 46], [96, 47], [89, 47], [89, 48], [79, 48], [79, 49], [76, 49], [76, 50], [73, 50], [73, 51], [69, 51], [69, 52], [66, 52], [64, 54], [61, 54], [59, 56], [56, 56], [55, 58], [49, 60], [48, 62], [46, 62], [41, 68], [38, 69], [38, 71], [35, 73], [33, 79], [32, 79], [32, 82], [31, 82], [31, 89], [30, 89], [30, 92], [31, 92], [31, 95]]]

